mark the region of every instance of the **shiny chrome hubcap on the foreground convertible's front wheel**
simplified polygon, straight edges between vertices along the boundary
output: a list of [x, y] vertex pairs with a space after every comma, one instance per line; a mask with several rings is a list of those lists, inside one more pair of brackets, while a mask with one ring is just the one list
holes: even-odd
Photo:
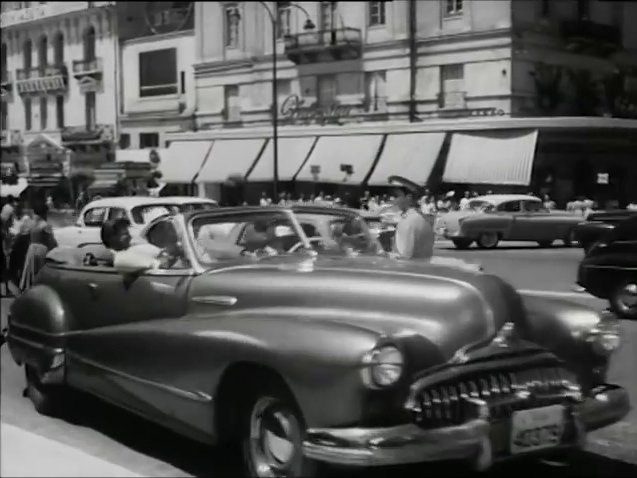
[[294, 475], [301, 430], [294, 414], [271, 397], [257, 401], [250, 416], [250, 454], [261, 477]]

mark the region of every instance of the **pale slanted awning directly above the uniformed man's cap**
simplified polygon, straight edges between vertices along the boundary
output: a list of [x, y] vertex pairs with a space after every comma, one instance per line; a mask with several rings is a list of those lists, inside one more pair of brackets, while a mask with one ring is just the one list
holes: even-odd
[[388, 186], [388, 179], [393, 175], [425, 184], [429, 180], [444, 140], [445, 133], [388, 135], [368, 184]]

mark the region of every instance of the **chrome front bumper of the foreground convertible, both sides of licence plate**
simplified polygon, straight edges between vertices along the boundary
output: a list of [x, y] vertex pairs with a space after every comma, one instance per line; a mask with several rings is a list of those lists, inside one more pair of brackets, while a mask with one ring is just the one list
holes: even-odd
[[[629, 410], [628, 394], [623, 388], [598, 387], [592, 397], [570, 408], [574, 439], [556, 448], [582, 447], [586, 432], [619, 421]], [[361, 467], [473, 460], [474, 467], [482, 470], [499, 459], [493, 453], [488, 418], [436, 429], [423, 429], [416, 424], [310, 429], [303, 449], [306, 457], [317, 461]]]

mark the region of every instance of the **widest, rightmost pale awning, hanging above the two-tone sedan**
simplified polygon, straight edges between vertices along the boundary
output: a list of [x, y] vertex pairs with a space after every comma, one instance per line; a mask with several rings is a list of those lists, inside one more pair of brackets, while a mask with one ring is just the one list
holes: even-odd
[[537, 130], [454, 133], [443, 181], [511, 184], [531, 182]]

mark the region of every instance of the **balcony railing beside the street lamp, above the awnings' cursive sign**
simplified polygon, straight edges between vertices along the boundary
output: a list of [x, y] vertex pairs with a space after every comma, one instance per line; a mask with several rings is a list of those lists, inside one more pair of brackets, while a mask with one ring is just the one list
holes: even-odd
[[360, 58], [363, 37], [358, 28], [339, 28], [286, 35], [285, 54], [293, 63]]

